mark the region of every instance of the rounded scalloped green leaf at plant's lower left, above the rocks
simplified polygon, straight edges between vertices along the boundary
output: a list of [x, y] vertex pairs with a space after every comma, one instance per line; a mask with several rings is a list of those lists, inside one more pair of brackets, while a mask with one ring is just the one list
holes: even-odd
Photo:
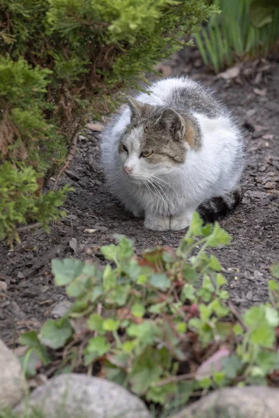
[[44, 323], [38, 337], [40, 343], [56, 349], [63, 347], [72, 334], [73, 330], [67, 319], [49, 319]]

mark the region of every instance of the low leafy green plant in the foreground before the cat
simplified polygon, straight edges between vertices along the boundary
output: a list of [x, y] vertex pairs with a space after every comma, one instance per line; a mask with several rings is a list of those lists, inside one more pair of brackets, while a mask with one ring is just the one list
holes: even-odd
[[[203, 226], [196, 213], [176, 251], [158, 247], [137, 256], [131, 240], [117, 239], [101, 248], [105, 265], [52, 261], [56, 285], [75, 302], [65, 318], [47, 320], [36, 349], [38, 342], [43, 350], [63, 348], [63, 366], [98, 364], [101, 376], [162, 405], [186, 403], [200, 389], [272, 379], [279, 286], [269, 284], [271, 304], [232, 321], [222, 268], [206, 254], [229, 243], [217, 223]], [[24, 338], [32, 348], [33, 334], [31, 343]]]

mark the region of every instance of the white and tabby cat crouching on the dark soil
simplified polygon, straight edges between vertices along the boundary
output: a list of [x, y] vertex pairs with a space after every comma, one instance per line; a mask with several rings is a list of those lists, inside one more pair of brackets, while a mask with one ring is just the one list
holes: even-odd
[[185, 229], [195, 210], [214, 222], [241, 202], [241, 129], [188, 77], [161, 79], [128, 98], [101, 150], [112, 192], [135, 217], [144, 215], [147, 229]]

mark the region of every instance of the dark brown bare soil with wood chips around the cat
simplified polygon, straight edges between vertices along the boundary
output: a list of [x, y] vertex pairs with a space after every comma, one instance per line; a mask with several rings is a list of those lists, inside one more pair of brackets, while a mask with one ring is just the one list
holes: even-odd
[[[189, 54], [188, 49], [164, 65], [163, 73], [190, 74], [213, 87], [246, 130], [245, 197], [235, 214], [220, 222], [232, 235], [232, 244], [213, 252], [229, 279], [232, 302], [241, 309], [263, 302], [269, 265], [279, 259], [279, 61], [243, 65], [233, 79], [204, 70], [198, 54]], [[18, 334], [50, 318], [52, 309], [66, 298], [53, 284], [52, 258], [102, 261], [99, 247], [113, 242], [114, 233], [133, 238], [138, 249], [176, 247], [183, 236], [147, 231], [142, 220], [123, 210], [105, 185], [99, 143], [98, 134], [80, 139], [73, 164], [60, 181], [75, 187], [65, 204], [66, 219], [52, 224], [49, 235], [43, 229], [22, 233], [22, 242], [13, 251], [1, 242], [0, 280], [6, 281], [8, 290], [0, 289], [0, 337], [9, 345]]]

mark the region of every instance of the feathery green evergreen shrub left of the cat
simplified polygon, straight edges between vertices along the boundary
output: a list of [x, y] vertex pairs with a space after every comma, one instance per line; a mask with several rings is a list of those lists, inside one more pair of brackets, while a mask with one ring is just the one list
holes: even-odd
[[43, 183], [77, 126], [213, 13], [205, 0], [0, 0], [0, 238], [63, 215], [67, 189]]

